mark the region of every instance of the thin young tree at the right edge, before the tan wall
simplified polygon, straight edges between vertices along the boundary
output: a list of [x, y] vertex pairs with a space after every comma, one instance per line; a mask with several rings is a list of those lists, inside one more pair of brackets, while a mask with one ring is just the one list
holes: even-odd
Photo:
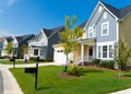
[[131, 57], [131, 48], [123, 40], [115, 44], [114, 58], [118, 64], [119, 78], [123, 77], [123, 70], [128, 63], [128, 59]]

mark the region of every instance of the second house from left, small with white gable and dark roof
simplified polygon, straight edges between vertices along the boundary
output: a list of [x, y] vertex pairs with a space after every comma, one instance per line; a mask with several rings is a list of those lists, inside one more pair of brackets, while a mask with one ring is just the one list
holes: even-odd
[[22, 36], [15, 36], [12, 39], [12, 45], [13, 45], [13, 52], [12, 56], [16, 58], [22, 58], [22, 46], [23, 45], [28, 45], [27, 40], [33, 38], [35, 35], [22, 35]]

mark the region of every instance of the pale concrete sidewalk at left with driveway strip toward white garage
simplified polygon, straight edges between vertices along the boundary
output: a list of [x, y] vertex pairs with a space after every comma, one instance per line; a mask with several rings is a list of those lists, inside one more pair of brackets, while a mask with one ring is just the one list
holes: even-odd
[[[41, 66], [60, 66], [60, 64], [57, 64], [55, 62], [48, 62], [48, 63], [39, 63], [38, 66], [41, 67]], [[28, 68], [28, 67], [36, 67], [36, 63], [16, 64], [15, 66], [15, 68]], [[3, 91], [2, 91], [3, 93], [0, 93], [0, 94], [23, 94], [15, 78], [9, 71], [10, 68], [13, 68], [13, 64], [0, 64], [0, 71], [2, 74], [1, 79], [3, 80]], [[0, 87], [0, 89], [2, 89], [2, 87]]]

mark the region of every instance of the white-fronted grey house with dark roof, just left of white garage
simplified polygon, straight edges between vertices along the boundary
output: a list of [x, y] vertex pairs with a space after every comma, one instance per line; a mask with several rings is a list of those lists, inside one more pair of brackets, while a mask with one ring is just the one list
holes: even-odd
[[41, 32], [33, 39], [28, 40], [28, 55], [27, 57], [34, 57], [39, 59], [53, 59], [52, 45], [60, 42], [59, 33], [63, 31], [63, 26], [47, 30], [43, 28]]

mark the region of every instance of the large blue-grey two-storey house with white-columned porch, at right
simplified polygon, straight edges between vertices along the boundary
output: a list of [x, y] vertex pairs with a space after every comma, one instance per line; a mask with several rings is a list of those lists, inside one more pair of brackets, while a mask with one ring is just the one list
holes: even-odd
[[74, 54], [75, 63], [92, 63], [94, 58], [114, 60], [116, 43], [123, 39], [131, 47], [131, 5], [117, 9], [98, 1], [84, 30]]

